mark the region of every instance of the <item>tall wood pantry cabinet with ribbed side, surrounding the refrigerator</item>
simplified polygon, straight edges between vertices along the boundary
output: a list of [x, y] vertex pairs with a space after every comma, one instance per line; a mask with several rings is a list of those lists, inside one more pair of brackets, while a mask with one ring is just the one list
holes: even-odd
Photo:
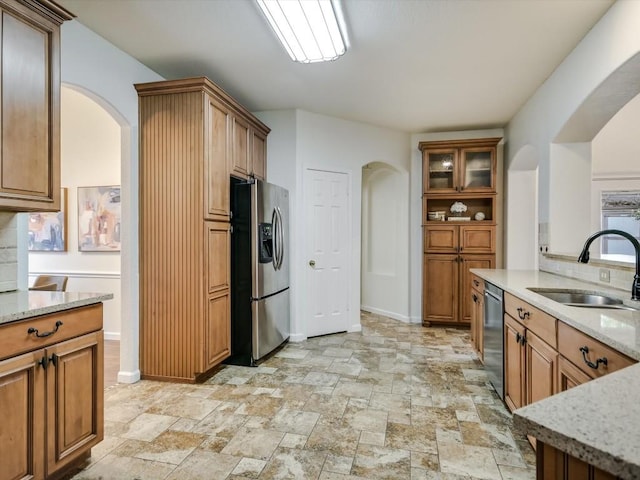
[[135, 87], [142, 377], [195, 382], [230, 355], [230, 175], [264, 178], [269, 128], [205, 77]]

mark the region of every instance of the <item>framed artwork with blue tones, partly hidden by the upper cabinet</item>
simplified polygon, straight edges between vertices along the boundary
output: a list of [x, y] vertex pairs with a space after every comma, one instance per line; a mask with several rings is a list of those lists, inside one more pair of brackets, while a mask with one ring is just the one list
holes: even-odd
[[67, 251], [67, 189], [61, 189], [59, 212], [29, 213], [29, 251]]

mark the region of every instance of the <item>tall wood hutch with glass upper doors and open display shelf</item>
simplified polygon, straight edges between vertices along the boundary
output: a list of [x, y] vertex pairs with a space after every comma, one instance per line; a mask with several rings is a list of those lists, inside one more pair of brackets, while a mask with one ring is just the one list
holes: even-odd
[[[422, 323], [469, 325], [472, 268], [495, 268], [500, 138], [420, 142]], [[450, 211], [462, 202], [466, 212]], [[476, 220], [476, 214], [481, 220]], [[444, 218], [443, 218], [444, 216]]]

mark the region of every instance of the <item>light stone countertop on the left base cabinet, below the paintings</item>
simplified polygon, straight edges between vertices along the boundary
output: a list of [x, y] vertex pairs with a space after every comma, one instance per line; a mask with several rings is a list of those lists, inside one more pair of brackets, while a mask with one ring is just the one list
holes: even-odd
[[111, 293], [48, 292], [17, 290], [0, 293], [0, 325], [48, 313], [100, 303], [113, 298]]

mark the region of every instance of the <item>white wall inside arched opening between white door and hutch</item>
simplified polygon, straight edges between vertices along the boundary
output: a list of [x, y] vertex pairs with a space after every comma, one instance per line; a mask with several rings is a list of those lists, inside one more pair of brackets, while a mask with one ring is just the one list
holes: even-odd
[[362, 309], [409, 322], [409, 172], [362, 169]]

